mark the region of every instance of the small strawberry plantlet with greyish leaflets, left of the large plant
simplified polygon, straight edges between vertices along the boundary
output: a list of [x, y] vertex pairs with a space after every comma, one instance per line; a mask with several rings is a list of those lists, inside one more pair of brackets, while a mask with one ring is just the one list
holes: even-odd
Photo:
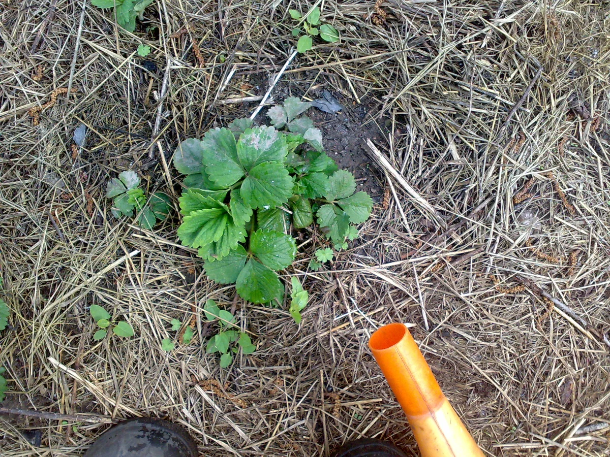
[[124, 171], [118, 178], [111, 179], [106, 186], [106, 197], [113, 199], [112, 214], [121, 216], [137, 215], [135, 223], [149, 230], [157, 221], [163, 221], [170, 213], [171, 199], [163, 192], [156, 192], [150, 199], [140, 189], [140, 177], [134, 171]]

